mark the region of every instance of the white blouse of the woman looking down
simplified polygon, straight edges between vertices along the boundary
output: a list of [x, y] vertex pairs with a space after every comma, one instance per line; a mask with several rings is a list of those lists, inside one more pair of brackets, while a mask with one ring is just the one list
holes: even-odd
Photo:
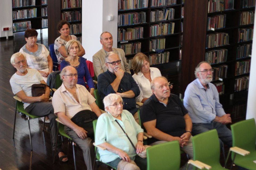
[[[150, 67], [149, 70], [151, 80], [161, 76], [161, 72], [158, 68]], [[149, 79], [147, 79], [141, 72], [133, 74], [132, 77], [140, 88], [140, 95], [136, 97], [136, 101], [141, 102], [143, 98], [149, 98], [152, 95]]]

